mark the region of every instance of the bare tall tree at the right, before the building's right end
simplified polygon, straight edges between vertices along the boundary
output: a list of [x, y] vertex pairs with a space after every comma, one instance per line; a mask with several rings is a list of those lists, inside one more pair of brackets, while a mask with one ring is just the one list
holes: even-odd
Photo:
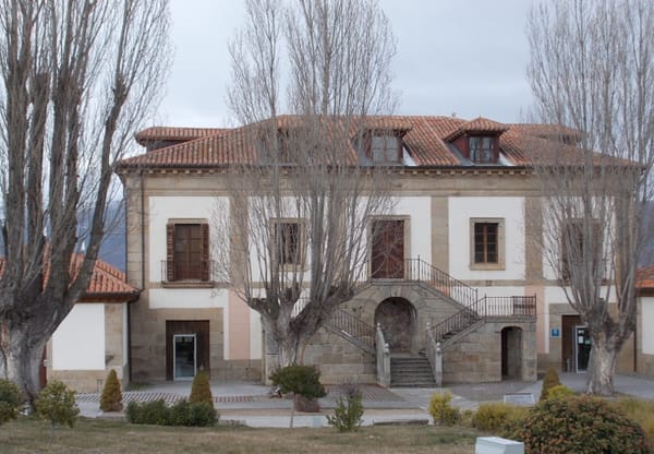
[[654, 3], [543, 3], [528, 36], [538, 120], [561, 127], [560, 146], [533, 144], [543, 157], [544, 255], [591, 334], [586, 391], [608, 395], [635, 327], [641, 217], [652, 195]]

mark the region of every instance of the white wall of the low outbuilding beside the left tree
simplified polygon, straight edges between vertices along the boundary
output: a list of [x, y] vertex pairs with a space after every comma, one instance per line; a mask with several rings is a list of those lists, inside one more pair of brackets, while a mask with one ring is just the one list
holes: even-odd
[[105, 369], [105, 304], [75, 304], [52, 334], [53, 370]]

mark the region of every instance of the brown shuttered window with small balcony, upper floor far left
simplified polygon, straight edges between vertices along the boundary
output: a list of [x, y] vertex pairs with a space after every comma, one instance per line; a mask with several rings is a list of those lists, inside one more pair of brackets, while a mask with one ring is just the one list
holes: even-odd
[[168, 224], [166, 280], [209, 280], [208, 224]]

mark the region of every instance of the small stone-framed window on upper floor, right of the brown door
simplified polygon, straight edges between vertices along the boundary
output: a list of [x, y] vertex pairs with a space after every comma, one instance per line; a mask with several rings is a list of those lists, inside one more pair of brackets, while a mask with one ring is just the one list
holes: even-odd
[[471, 219], [471, 268], [504, 270], [504, 219]]

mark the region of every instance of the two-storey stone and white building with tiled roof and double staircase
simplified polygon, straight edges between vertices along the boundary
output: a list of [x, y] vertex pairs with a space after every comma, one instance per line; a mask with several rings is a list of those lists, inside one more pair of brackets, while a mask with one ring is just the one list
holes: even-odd
[[[387, 165], [397, 203], [370, 223], [392, 237], [396, 265], [367, 274], [303, 361], [327, 383], [375, 382], [379, 326], [393, 384], [433, 383], [429, 366], [421, 372], [431, 342], [439, 343], [445, 382], [533, 380], [549, 366], [583, 371], [588, 332], [558, 287], [559, 271], [530, 240], [541, 232], [529, 222], [541, 217], [530, 170], [536, 151], [553, 142], [573, 150], [577, 133], [484, 118], [372, 120], [367, 148], [353, 141], [352, 153]], [[277, 121], [284, 133], [289, 118]], [[274, 351], [259, 314], [213, 277], [210, 258], [211, 244], [230, 235], [211, 223], [217, 201], [230, 204], [228, 169], [258, 156], [246, 134], [254, 127], [149, 128], [136, 134], [145, 153], [120, 163], [128, 282], [142, 290], [130, 307], [133, 380], [185, 380], [199, 368], [213, 379], [265, 375]]]

